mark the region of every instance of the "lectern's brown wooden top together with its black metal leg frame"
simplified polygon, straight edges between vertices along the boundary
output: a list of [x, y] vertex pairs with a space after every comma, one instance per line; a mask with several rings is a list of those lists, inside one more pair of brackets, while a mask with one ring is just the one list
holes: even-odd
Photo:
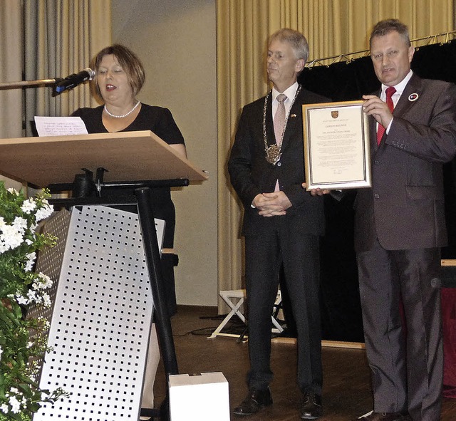
[[[162, 288], [160, 249], [150, 188], [186, 186], [190, 182], [207, 180], [208, 176], [147, 130], [0, 140], [0, 173], [14, 180], [27, 182], [33, 187], [48, 187], [53, 192], [74, 191], [75, 176], [81, 170], [90, 177], [96, 172], [94, 194], [52, 199], [50, 202], [57, 207], [137, 205], [160, 353], [167, 376], [178, 374], [170, 316]], [[103, 189], [110, 187], [134, 190], [135, 203], [125, 198], [104, 198]], [[160, 417], [169, 417], [167, 402], [163, 402]]]

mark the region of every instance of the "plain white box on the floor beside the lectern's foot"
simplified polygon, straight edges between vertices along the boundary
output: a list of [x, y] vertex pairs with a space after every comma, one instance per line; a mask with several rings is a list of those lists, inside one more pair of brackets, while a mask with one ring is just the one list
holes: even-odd
[[171, 421], [229, 421], [228, 382], [223, 373], [170, 375]]

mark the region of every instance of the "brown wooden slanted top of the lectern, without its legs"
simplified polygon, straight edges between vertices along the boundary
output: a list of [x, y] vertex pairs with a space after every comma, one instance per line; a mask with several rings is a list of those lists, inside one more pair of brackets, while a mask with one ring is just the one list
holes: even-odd
[[149, 130], [0, 139], [0, 174], [38, 187], [71, 183], [82, 168], [98, 167], [108, 170], [106, 182], [208, 178]]

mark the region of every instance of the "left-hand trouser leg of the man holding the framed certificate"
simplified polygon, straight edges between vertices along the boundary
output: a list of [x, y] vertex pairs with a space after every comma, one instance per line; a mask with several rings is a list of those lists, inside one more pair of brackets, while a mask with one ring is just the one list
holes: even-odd
[[372, 370], [375, 412], [407, 409], [405, 341], [400, 319], [400, 287], [389, 251], [378, 242], [358, 253], [364, 338]]

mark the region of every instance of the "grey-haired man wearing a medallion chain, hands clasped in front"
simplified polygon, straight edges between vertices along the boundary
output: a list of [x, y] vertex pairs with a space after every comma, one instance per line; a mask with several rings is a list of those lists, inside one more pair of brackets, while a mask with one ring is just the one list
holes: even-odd
[[[271, 311], [284, 266], [298, 333], [299, 415], [322, 415], [319, 237], [323, 198], [304, 180], [302, 104], [328, 102], [297, 83], [309, 56], [306, 38], [281, 29], [269, 38], [267, 74], [272, 90], [246, 105], [229, 157], [232, 186], [244, 204], [245, 274], [249, 319], [249, 393], [235, 415], [271, 405]], [[281, 95], [284, 94], [284, 95]]]

